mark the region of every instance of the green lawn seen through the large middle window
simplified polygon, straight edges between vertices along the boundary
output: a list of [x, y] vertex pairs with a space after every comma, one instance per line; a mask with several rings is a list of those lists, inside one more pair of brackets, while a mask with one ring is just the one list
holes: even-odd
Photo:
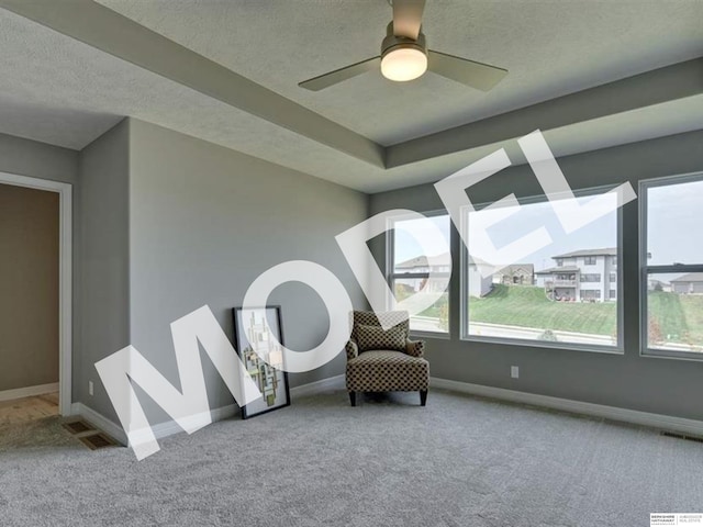
[[495, 284], [469, 306], [470, 322], [609, 336], [617, 325], [614, 302], [553, 302], [543, 288], [531, 285]]

